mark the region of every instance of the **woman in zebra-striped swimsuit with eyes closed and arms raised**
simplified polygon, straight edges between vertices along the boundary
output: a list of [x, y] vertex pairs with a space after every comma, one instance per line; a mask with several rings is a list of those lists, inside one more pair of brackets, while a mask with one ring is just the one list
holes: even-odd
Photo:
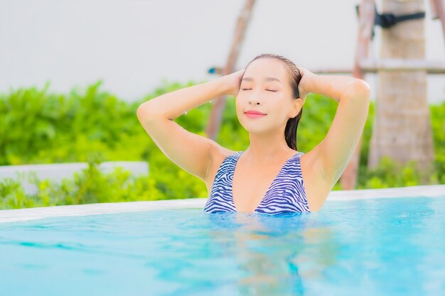
[[[302, 153], [296, 129], [308, 92], [335, 99], [338, 108], [323, 141]], [[237, 118], [249, 132], [245, 151], [224, 148], [173, 121], [228, 94], [236, 96]], [[369, 96], [363, 80], [314, 75], [285, 57], [265, 54], [245, 70], [151, 99], [137, 116], [168, 158], [205, 182], [205, 212], [316, 212], [353, 156]]]

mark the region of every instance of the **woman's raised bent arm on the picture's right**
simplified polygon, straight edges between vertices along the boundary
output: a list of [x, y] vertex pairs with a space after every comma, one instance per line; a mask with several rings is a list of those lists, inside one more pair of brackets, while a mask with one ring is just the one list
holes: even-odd
[[309, 70], [300, 70], [302, 99], [308, 92], [314, 92], [338, 102], [336, 116], [326, 137], [313, 148], [320, 161], [321, 174], [332, 189], [353, 157], [363, 133], [370, 105], [370, 87], [353, 77], [315, 75]]

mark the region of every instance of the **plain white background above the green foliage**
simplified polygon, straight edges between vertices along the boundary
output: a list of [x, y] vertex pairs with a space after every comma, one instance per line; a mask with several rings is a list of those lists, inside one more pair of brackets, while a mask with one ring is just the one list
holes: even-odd
[[[0, 0], [0, 92], [43, 87], [102, 89], [134, 101], [163, 79], [211, 79], [224, 65], [242, 0]], [[257, 0], [238, 68], [259, 53], [303, 67], [352, 67], [358, 0]], [[426, 2], [428, 4], [428, 1]], [[379, 1], [377, 1], [377, 5]], [[445, 60], [439, 21], [427, 7], [427, 59]], [[380, 28], [371, 55], [378, 57]], [[376, 77], [368, 75], [375, 93]], [[445, 75], [429, 78], [430, 102], [445, 99]]]

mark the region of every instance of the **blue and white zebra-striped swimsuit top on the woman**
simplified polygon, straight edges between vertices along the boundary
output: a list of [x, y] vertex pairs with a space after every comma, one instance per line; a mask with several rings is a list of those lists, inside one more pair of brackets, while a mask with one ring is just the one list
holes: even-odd
[[[237, 211], [232, 196], [232, 180], [242, 152], [244, 151], [227, 156], [221, 164], [213, 181], [210, 197], [205, 203], [204, 212]], [[296, 153], [286, 160], [254, 212], [263, 214], [310, 212], [301, 175], [300, 156], [303, 154]]]

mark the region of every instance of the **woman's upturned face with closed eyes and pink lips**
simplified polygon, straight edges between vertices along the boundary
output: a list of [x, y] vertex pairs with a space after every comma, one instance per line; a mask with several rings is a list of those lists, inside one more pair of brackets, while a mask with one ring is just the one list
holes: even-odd
[[[284, 130], [287, 121], [299, 114], [298, 101], [293, 97], [284, 62], [259, 58], [250, 63], [242, 77], [236, 97], [238, 120], [250, 133]], [[265, 115], [250, 115], [250, 110]]]

